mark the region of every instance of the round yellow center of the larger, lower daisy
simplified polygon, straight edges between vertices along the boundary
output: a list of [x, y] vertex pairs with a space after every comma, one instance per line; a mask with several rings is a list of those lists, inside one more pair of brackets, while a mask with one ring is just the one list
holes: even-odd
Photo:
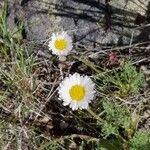
[[81, 85], [74, 85], [69, 90], [69, 94], [72, 100], [82, 101], [85, 96], [85, 88]]

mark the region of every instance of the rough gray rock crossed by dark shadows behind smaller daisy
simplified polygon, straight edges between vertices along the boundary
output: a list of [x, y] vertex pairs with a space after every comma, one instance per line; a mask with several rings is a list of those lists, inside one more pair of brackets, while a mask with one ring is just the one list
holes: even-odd
[[24, 20], [28, 40], [40, 42], [65, 30], [75, 42], [91, 47], [129, 44], [133, 32], [134, 37], [140, 34], [133, 28], [137, 13], [143, 15], [146, 9], [126, 0], [110, 4], [105, 0], [11, 0], [8, 21], [14, 24], [15, 17]]

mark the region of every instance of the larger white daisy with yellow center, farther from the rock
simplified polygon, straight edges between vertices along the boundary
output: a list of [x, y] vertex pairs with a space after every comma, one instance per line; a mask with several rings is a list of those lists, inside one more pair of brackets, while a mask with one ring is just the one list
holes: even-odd
[[95, 90], [94, 83], [88, 76], [80, 76], [78, 73], [65, 78], [59, 87], [59, 99], [63, 105], [69, 105], [72, 110], [87, 109], [93, 100]]

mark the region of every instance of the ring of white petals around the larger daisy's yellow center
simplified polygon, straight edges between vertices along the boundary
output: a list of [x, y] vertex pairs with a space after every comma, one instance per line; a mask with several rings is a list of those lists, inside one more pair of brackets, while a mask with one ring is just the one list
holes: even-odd
[[[81, 101], [75, 101], [71, 99], [69, 90], [72, 86], [79, 84], [85, 88], [85, 96]], [[69, 75], [65, 78], [59, 86], [59, 97], [63, 100], [63, 105], [69, 105], [72, 110], [87, 109], [89, 103], [93, 100], [95, 90], [94, 83], [88, 76], [80, 76], [78, 73]]]

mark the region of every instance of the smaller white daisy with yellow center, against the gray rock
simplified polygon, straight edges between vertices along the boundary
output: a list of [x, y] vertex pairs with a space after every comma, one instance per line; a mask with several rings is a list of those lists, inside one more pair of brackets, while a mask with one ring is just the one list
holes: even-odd
[[49, 49], [52, 53], [58, 56], [66, 56], [72, 50], [72, 39], [67, 34], [67, 32], [62, 32], [61, 34], [54, 34], [49, 41]]

